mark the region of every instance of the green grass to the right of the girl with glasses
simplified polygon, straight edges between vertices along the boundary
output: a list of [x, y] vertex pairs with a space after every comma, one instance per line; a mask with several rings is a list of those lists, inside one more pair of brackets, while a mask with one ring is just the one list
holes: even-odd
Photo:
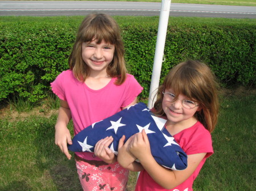
[[256, 96], [222, 99], [213, 132], [214, 155], [195, 182], [197, 190], [255, 190]]

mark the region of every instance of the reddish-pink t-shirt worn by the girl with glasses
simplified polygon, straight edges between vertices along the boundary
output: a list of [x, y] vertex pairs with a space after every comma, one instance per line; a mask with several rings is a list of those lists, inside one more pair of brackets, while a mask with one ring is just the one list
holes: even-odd
[[[164, 129], [166, 130], [166, 129]], [[187, 155], [199, 154], [207, 152], [204, 159], [201, 161], [195, 172], [188, 177], [182, 184], [176, 186], [171, 191], [192, 191], [193, 181], [199, 174], [205, 160], [213, 154], [212, 137], [207, 129], [200, 122], [196, 122], [191, 128], [184, 129], [174, 135], [175, 141], [179, 143], [180, 147]], [[168, 190], [158, 185], [146, 171], [139, 174], [139, 179], [135, 191], [158, 191]]]

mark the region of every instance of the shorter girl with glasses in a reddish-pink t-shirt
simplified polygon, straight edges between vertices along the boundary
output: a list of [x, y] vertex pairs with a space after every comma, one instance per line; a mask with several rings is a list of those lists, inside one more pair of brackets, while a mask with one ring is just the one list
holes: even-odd
[[205, 160], [213, 154], [210, 133], [217, 123], [218, 95], [212, 71], [199, 61], [179, 63], [159, 87], [152, 112], [166, 118], [164, 131], [186, 152], [188, 167], [172, 171], [156, 163], [144, 130], [125, 144], [124, 136], [120, 139], [118, 162], [131, 171], [141, 171], [135, 191], [193, 190], [193, 181]]

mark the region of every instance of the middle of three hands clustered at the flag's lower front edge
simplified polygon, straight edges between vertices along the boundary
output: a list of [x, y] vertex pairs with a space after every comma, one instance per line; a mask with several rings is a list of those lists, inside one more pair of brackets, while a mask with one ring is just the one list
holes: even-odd
[[125, 143], [125, 135], [119, 140], [118, 143], [118, 155], [117, 161], [123, 168], [129, 168], [130, 164], [133, 163], [136, 158], [129, 151], [129, 144], [133, 140], [134, 135], [131, 136]]

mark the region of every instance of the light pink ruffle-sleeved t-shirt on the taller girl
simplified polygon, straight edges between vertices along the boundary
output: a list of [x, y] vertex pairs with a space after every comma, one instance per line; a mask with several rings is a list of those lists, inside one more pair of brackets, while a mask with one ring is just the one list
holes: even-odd
[[[62, 100], [68, 102], [72, 113], [75, 135], [94, 122], [122, 110], [129, 105], [143, 90], [133, 77], [127, 74], [120, 86], [114, 84], [117, 78], [100, 90], [92, 90], [85, 83], [77, 80], [72, 70], [63, 71], [51, 83], [52, 91]], [[87, 160], [100, 160], [90, 152], [76, 152]]]

